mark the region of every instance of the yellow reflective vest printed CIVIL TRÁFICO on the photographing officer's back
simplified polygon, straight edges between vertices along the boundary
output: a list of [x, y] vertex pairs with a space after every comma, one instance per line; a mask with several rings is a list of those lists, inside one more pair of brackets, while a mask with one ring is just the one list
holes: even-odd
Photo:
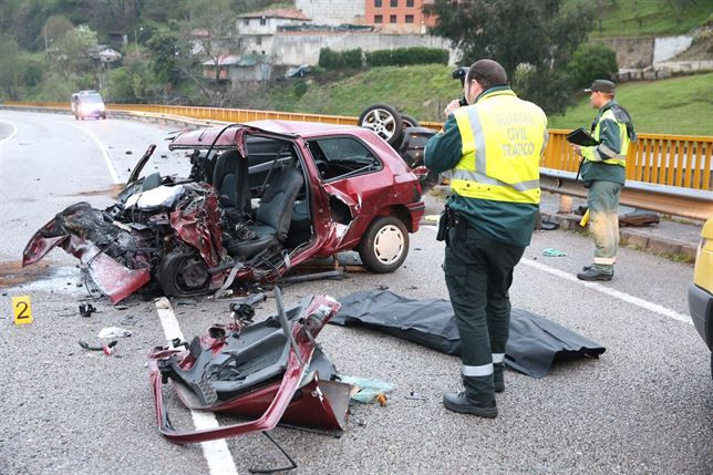
[[485, 92], [454, 112], [463, 151], [451, 189], [466, 198], [538, 204], [547, 117], [513, 91]]

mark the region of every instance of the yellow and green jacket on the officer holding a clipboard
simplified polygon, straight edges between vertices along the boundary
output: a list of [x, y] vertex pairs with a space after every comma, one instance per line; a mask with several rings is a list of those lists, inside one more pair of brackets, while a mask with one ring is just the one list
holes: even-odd
[[637, 140], [631, 116], [616, 101], [609, 101], [597, 113], [591, 135], [599, 145], [581, 149], [582, 180], [586, 185], [596, 180], [623, 185], [629, 145]]

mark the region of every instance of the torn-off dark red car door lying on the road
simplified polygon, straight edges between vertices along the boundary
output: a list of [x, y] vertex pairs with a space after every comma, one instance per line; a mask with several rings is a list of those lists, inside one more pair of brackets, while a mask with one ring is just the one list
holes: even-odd
[[[277, 314], [259, 323], [236, 319], [215, 324], [188, 348], [157, 347], [148, 355], [149, 380], [161, 433], [170, 442], [196, 443], [267, 432], [279, 422], [343, 431], [354, 388], [316, 342], [339, 310], [327, 296], [285, 310], [278, 287]], [[189, 409], [237, 414], [248, 422], [179, 431], [168, 419], [163, 385], [170, 382]]]

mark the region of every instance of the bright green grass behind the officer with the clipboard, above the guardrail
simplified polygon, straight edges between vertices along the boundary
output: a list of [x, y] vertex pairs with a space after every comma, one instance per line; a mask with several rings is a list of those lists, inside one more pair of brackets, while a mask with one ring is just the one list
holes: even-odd
[[[639, 132], [713, 135], [713, 73], [626, 83], [617, 87], [617, 101], [631, 113]], [[588, 126], [593, 116], [587, 96], [564, 116], [549, 117], [549, 126]]]

